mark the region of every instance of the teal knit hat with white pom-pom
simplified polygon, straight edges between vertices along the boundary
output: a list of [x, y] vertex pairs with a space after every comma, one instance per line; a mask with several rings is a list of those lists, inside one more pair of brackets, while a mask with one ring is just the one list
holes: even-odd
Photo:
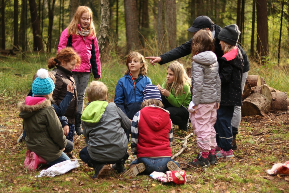
[[32, 83], [32, 93], [36, 96], [49, 95], [55, 88], [54, 82], [48, 76], [48, 71], [41, 68], [37, 71], [37, 78]]

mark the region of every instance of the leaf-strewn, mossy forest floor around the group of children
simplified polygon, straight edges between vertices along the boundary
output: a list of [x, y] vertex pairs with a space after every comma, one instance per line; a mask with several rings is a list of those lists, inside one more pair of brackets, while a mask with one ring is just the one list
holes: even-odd
[[[185, 185], [160, 183], [149, 176], [137, 176], [134, 180], [123, 178], [113, 170], [104, 179], [92, 179], [94, 170], [87, 164], [56, 177], [35, 178], [44, 165], [36, 171], [23, 168], [25, 142], [17, 144], [22, 133], [17, 102], [24, 96], [8, 97], [0, 93], [0, 192], [289, 192], [289, 177], [266, 173], [275, 163], [289, 160], [289, 117], [288, 114], [267, 117], [242, 117], [237, 135], [238, 150], [235, 157], [222, 159], [209, 168], [180, 167], [192, 178]], [[278, 112], [275, 112], [278, 113]], [[174, 136], [185, 137], [192, 133], [174, 129]], [[173, 154], [181, 149], [182, 141], [173, 139]], [[85, 147], [84, 137], [75, 145], [74, 155]], [[175, 161], [189, 162], [197, 155], [196, 136], [189, 139], [188, 150]], [[133, 160], [131, 155], [125, 167]], [[111, 166], [110, 166], [111, 168]]]

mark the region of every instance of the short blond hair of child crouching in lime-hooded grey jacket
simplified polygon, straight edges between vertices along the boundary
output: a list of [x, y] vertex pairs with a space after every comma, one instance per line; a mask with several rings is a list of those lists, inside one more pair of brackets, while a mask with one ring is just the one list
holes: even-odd
[[100, 81], [92, 81], [86, 89], [86, 94], [90, 102], [96, 100], [105, 100], [108, 93], [108, 87]]

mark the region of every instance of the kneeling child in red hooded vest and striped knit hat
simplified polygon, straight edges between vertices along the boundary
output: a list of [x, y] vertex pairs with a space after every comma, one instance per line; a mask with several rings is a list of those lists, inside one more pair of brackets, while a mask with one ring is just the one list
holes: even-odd
[[131, 162], [123, 175], [136, 177], [138, 173], [181, 170], [171, 159], [173, 124], [169, 112], [164, 110], [158, 87], [148, 84], [144, 88], [141, 110], [134, 115], [131, 124], [131, 150], [138, 159]]

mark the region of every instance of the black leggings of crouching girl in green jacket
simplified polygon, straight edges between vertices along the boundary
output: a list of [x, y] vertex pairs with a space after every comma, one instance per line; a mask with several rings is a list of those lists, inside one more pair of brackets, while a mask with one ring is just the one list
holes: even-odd
[[170, 118], [173, 124], [178, 125], [182, 130], [186, 130], [189, 119], [188, 109], [186, 109], [184, 106], [175, 107], [170, 102], [168, 102], [164, 95], [161, 94], [161, 96], [164, 109], [170, 112]]

